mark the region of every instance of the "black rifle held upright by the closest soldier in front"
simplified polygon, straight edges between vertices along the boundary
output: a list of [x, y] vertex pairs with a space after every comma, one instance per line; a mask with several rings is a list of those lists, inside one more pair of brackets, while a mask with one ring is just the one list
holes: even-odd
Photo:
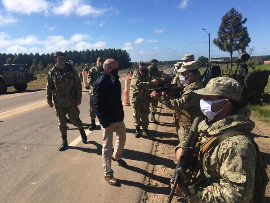
[[183, 180], [180, 178], [179, 174], [177, 173], [177, 170], [182, 169], [182, 171], [185, 173], [187, 171], [187, 168], [190, 164], [191, 159], [193, 159], [193, 152], [195, 149], [195, 145], [197, 143], [198, 138], [198, 125], [201, 122], [200, 117], [196, 117], [191, 125], [191, 129], [189, 131], [189, 134], [187, 135], [187, 141], [184, 145], [183, 151], [181, 153], [181, 156], [178, 160], [178, 163], [175, 167], [172, 184], [173, 187], [171, 189], [170, 195], [168, 197], [167, 203], [170, 203], [173, 199], [173, 194], [175, 191], [175, 188], [179, 182], [182, 182]]

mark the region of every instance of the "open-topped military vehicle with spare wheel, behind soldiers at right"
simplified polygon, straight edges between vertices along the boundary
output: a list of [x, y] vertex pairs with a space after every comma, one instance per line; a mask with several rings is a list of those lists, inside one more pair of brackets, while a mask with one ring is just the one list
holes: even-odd
[[[247, 64], [249, 58], [249, 54], [244, 53], [240, 54], [237, 60], [231, 61], [217, 59], [209, 60], [208, 62], [201, 62], [206, 63], [205, 70], [203, 74], [201, 74], [203, 85], [206, 86], [212, 78], [228, 77], [237, 80], [244, 87], [242, 95], [243, 99], [251, 96], [262, 96], [264, 88], [268, 83], [270, 71], [255, 70], [255, 67]], [[225, 67], [221, 69], [220, 65], [222, 64], [223, 66], [225, 64]], [[229, 67], [230, 64], [235, 64], [235, 66], [231, 68]], [[251, 71], [248, 70], [248, 66], [252, 68]]]

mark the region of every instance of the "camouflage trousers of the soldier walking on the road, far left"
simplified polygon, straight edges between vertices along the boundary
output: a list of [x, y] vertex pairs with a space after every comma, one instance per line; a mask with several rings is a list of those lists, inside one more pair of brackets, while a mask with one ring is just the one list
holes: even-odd
[[58, 127], [62, 137], [67, 137], [67, 118], [69, 116], [70, 122], [78, 129], [82, 129], [83, 125], [79, 119], [80, 110], [77, 106], [71, 107], [55, 107], [55, 115], [58, 119]]

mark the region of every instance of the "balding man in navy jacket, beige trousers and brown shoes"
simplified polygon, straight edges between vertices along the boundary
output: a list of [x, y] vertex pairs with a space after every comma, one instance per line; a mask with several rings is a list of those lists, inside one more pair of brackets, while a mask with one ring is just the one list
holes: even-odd
[[[103, 74], [94, 82], [94, 106], [103, 132], [102, 159], [105, 180], [116, 185], [113, 177], [111, 160], [117, 161], [125, 167], [127, 163], [121, 159], [126, 141], [126, 127], [124, 124], [124, 110], [121, 101], [121, 83], [119, 81], [118, 63], [107, 59], [103, 63]], [[113, 152], [113, 131], [116, 132], [116, 143]]]

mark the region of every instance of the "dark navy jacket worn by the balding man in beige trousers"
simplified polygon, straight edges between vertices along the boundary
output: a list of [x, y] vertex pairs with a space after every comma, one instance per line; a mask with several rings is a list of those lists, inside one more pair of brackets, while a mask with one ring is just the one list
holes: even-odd
[[121, 83], [119, 76], [115, 77], [114, 84], [111, 76], [103, 74], [93, 84], [95, 113], [103, 128], [111, 123], [124, 120], [124, 110], [121, 101]]

